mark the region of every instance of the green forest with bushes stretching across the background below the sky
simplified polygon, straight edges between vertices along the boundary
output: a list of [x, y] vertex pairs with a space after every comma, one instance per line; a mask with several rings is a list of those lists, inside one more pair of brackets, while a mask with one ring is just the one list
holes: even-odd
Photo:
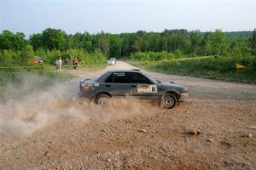
[[[161, 60], [195, 56], [256, 55], [255, 31], [224, 32], [164, 30], [111, 34], [88, 32], [67, 34], [47, 28], [26, 37], [22, 32], [5, 30], [0, 34], [1, 65], [28, 65], [34, 56], [54, 65], [57, 57], [78, 57], [79, 64], [94, 65], [109, 57], [134, 60]], [[154, 54], [156, 57], [148, 57]]]

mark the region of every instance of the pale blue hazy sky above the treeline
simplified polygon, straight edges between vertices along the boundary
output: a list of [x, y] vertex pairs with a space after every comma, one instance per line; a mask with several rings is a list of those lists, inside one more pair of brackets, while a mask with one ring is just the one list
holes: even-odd
[[0, 0], [0, 31], [26, 36], [51, 27], [76, 32], [187, 29], [253, 31], [256, 0]]

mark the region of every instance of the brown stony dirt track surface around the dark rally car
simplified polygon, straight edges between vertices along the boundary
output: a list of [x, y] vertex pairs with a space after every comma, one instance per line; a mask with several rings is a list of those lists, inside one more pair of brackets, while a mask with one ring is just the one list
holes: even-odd
[[[119, 61], [102, 71], [71, 71], [79, 77], [71, 92], [81, 78], [131, 68]], [[255, 85], [148, 74], [185, 85], [189, 99], [172, 110], [57, 99], [45, 110], [55, 111], [55, 121], [19, 137], [0, 130], [0, 169], [255, 169]], [[194, 129], [201, 134], [187, 133]]]

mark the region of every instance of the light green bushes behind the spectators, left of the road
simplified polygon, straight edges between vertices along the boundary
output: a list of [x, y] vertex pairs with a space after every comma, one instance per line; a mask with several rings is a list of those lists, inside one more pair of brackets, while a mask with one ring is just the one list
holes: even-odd
[[39, 56], [43, 60], [44, 65], [54, 65], [55, 59], [60, 58], [63, 61], [68, 57], [73, 59], [77, 57], [80, 65], [97, 65], [106, 61], [106, 57], [103, 56], [99, 49], [89, 53], [86, 53], [84, 49], [67, 49], [67, 51], [61, 51], [57, 49], [44, 50], [44, 48], [38, 48], [33, 51], [32, 47], [27, 45], [26, 48], [20, 51], [14, 51], [12, 49], [4, 49], [0, 51], [0, 65], [30, 65], [34, 56]]

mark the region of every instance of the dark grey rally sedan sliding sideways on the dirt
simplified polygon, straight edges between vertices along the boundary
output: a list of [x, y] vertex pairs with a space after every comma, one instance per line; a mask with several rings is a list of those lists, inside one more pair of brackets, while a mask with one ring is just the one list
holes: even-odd
[[160, 82], [139, 70], [107, 71], [101, 77], [80, 81], [79, 95], [98, 105], [110, 98], [153, 100], [160, 106], [171, 109], [188, 96], [188, 88], [174, 82]]

